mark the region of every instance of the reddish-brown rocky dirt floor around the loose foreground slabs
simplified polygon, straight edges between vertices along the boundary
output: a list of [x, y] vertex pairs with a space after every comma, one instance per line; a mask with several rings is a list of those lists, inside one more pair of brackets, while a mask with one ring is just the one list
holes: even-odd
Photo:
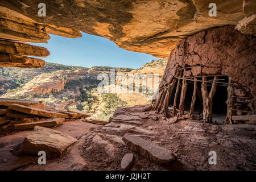
[[[122, 157], [128, 152], [135, 161], [130, 170], [255, 170], [255, 125], [220, 125], [183, 119], [169, 119], [146, 111], [142, 106], [115, 111], [108, 125], [82, 121], [64, 122], [56, 130], [79, 139], [58, 159], [38, 165], [38, 156], [17, 156], [20, 143], [31, 131], [0, 138], [0, 168], [4, 170], [121, 170]], [[141, 116], [141, 117], [140, 117]], [[157, 118], [156, 118], [157, 116]], [[144, 119], [142, 119], [144, 118]], [[157, 164], [131, 151], [122, 141], [125, 134], [150, 140], [177, 155], [175, 161]], [[11, 152], [10, 152], [11, 151]], [[217, 164], [210, 165], [209, 151], [216, 151]], [[14, 155], [15, 154], [15, 155]]]

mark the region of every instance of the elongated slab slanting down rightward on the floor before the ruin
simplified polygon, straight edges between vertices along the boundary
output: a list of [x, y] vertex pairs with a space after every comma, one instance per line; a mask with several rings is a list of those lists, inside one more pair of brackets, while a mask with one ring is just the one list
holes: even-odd
[[155, 143], [144, 140], [135, 135], [125, 135], [122, 140], [130, 150], [137, 152], [144, 156], [144, 158], [154, 160], [156, 163], [168, 163], [175, 159], [174, 154], [172, 154], [170, 150], [159, 147]]

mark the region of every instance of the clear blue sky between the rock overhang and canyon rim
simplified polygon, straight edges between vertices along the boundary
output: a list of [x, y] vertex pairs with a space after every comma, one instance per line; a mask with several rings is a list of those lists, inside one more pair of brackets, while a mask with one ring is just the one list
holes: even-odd
[[88, 68], [93, 66], [140, 68], [152, 59], [158, 59], [146, 53], [119, 48], [109, 39], [81, 33], [82, 37], [76, 39], [51, 34], [47, 44], [31, 44], [46, 47], [51, 52], [48, 57], [43, 57], [47, 62]]

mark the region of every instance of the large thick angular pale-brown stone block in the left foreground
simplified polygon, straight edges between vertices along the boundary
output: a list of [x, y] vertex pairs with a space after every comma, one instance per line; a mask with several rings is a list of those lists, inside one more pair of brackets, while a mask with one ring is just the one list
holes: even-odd
[[35, 126], [34, 131], [24, 139], [22, 152], [38, 155], [39, 151], [45, 151], [46, 155], [60, 155], [75, 142], [77, 139], [60, 131]]

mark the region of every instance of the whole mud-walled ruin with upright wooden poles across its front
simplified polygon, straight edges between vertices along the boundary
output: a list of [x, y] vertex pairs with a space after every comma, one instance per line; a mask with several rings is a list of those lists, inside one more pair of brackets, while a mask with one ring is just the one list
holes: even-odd
[[178, 106], [185, 118], [195, 118], [197, 110], [208, 122], [213, 111], [222, 111], [224, 122], [231, 124], [233, 116], [254, 114], [255, 40], [225, 26], [180, 41], [169, 57], [154, 109], [174, 117]]

